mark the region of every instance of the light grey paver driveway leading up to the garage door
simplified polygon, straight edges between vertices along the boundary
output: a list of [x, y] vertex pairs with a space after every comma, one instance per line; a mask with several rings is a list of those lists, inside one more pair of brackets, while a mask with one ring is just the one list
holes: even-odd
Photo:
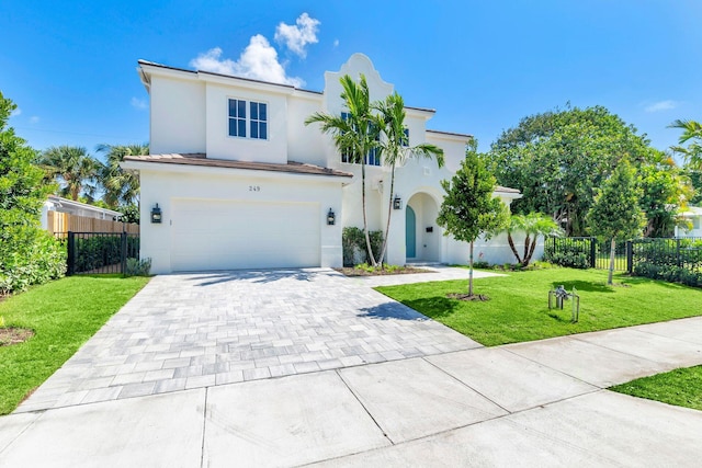
[[[419, 275], [418, 281], [465, 275]], [[375, 279], [382, 282], [382, 278]], [[18, 412], [479, 347], [328, 269], [157, 276]]]

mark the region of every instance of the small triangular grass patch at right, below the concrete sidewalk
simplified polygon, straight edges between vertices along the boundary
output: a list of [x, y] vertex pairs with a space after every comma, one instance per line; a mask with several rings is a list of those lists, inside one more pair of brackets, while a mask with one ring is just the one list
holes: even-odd
[[611, 387], [610, 390], [702, 410], [702, 366], [675, 369]]

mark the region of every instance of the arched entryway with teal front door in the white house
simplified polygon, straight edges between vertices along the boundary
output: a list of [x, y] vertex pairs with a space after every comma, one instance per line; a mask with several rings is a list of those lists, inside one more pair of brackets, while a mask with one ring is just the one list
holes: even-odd
[[439, 206], [429, 194], [412, 195], [405, 209], [405, 248], [408, 262], [439, 262], [441, 231], [437, 225]]

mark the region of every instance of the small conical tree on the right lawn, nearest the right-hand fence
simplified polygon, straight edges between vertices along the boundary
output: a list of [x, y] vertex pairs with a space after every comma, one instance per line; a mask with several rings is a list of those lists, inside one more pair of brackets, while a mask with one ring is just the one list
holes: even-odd
[[587, 215], [590, 230], [596, 236], [610, 239], [610, 272], [607, 279], [612, 285], [616, 239], [641, 236], [646, 216], [638, 206], [642, 192], [637, 187], [635, 171], [622, 159], [602, 189], [595, 196], [595, 204]]

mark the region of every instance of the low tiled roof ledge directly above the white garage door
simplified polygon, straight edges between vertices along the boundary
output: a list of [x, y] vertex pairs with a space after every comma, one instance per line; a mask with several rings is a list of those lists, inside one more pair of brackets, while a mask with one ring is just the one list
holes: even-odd
[[231, 161], [225, 159], [207, 158], [202, 152], [191, 153], [169, 153], [148, 156], [126, 156], [124, 161], [150, 162], [165, 164], [203, 165], [208, 168], [244, 169], [251, 171], [290, 172], [295, 174], [310, 175], [332, 175], [340, 178], [352, 178], [350, 172], [338, 171], [336, 169], [322, 168], [320, 165], [304, 164], [302, 162], [288, 161], [287, 164], [274, 164], [270, 162]]

